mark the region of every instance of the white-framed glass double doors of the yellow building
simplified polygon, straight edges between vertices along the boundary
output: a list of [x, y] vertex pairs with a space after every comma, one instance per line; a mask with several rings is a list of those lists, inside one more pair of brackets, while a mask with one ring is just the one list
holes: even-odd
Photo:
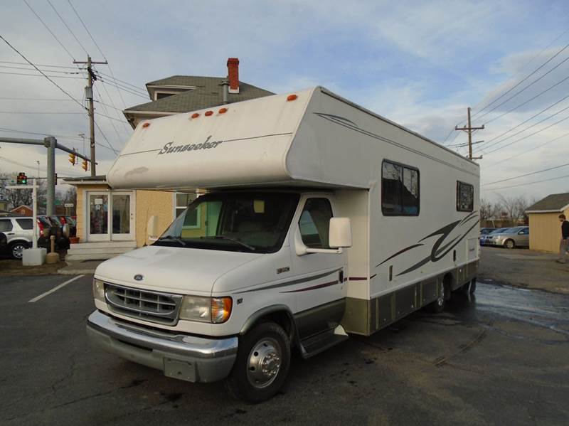
[[133, 194], [87, 193], [87, 241], [134, 240]]

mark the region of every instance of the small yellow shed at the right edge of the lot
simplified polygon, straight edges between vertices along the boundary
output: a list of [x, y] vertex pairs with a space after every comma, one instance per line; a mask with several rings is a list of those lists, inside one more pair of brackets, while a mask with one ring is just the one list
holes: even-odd
[[529, 247], [531, 250], [555, 253], [559, 251], [561, 224], [558, 216], [569, 217], [569, 192], [552, 193], [528, 207]]

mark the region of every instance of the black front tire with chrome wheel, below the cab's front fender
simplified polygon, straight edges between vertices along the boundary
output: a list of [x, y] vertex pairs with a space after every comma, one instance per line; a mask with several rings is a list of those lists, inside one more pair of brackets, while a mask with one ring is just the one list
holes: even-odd
[[225, 379], [225, 388], [235, 399], [262, 403], [282, 388], [289, 367], [289, 337], [281, 326], [265, 322], [240, 337], [237, 358]]

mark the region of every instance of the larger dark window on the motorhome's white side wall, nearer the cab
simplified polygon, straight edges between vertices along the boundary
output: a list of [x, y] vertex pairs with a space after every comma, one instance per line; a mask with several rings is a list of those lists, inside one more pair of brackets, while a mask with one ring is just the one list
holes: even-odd
[[389, 216], [419, 215], [419, 171], [390, 161], [381, 167], [381, 211]]

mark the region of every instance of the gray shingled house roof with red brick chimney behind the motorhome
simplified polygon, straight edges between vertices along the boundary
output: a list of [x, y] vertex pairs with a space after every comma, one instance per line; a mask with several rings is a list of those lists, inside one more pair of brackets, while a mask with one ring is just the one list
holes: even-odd
[[172, 75], [148, 82], [150, 102], [127, 108], [123, 111], [124, 117], [127, 117], [134, 129], [145, 119], [274, 95], [268, 90], [239, 80], [238, 58], [229, 58], [227, 66], [226, 77]]

